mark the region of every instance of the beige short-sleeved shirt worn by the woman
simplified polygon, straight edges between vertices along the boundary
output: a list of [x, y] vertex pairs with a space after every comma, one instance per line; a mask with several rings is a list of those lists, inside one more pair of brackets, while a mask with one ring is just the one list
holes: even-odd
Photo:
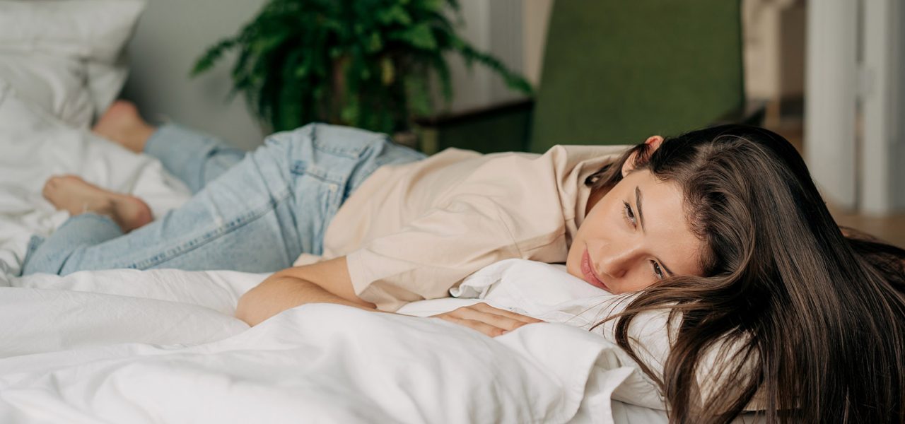
[[501, 259], [566, 261], [585, 218], [584, 182], [627, 146], [544, 155], [449, 148], [367, 177], [330, 222], [323, 259], [346, 255], [359, 297], [383, 310], [448, 297]]

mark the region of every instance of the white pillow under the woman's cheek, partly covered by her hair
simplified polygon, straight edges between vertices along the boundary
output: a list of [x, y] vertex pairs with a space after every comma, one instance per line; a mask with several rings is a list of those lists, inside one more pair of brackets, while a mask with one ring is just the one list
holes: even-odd
[[[567, 273], [565, 265], [553, 265], [524, 259], [506, 259], [474, 272], [462, 281], [462, 285], [450, 290], [455, 299], [436, 299], [414, 302], [403, 306], [399, 313], [414, 316], [433, 316], [456, 307], [484, 301], [491, 306], [534, 316], [549, 323], [560, 323], [590, 329], [608, 316], [622, 312], [633, 299], [631, 295], [613, 295], [587, 284], [581, 278]], [[628, 336], [635, 344], [635, 352], [653, 372], [662, 378], [662, 370], [669, 357], [671, 340], [667, 327], [669, 312], [651, 311], [639, 314], [629, 326]], [[594, 332], [616, 344], [616, 321], [607, 321], [595, 327]], [[672, 328], [675, 331], [675, 328]], [[717, 344], [700, 363], [699, 383], [707, 391], [713, 381], [717, 361], [715, 353], [722, 347]], [[736, 347], [729, 347], [733, 349]], [[616, 353], [620, 362], [633, 366], [636, 372], [614, 392], [614, 400], [663, 409], [665, 401], [656, 383], [634, 363], [627, 353]], [[763, 410], [763, 401], [755, 398], [746, 410]]]

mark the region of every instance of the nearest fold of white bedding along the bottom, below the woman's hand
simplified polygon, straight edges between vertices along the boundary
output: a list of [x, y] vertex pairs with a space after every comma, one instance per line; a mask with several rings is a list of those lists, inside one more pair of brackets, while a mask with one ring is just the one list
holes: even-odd
[[[562, 361], [551, 342], [577, 352]], [[494, 340], [436, 319], [301, 306], [208, 344], [7, 358], [0, 419], [567, 422], [605, 353], [598, 337], [571, 327], [532, 325]], [[610, 372], [615, 382], [630, 370]], [[596, 422], [607, 422], [604, 406]]]

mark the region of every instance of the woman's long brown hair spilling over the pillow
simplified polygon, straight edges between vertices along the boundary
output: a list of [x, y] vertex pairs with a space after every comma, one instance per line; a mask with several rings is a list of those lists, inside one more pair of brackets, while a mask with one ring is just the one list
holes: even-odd
[[[801, 156], [767, 129], [692, 131], [653, 153], [639, 145], [586, 184], [612, 188], [633, 152], [636, 170], [681, 186], [706, 246], [706, 277], [663, 280], [609, 318], [672, 422], [727, 422], [749, 404], [767, 422], [905, 422], [905, 250], [843, 235]], [[675, 336], [661, 377], [628, 329], [662, 309]], [[705, 358], [716, 366], [705, 370]]]

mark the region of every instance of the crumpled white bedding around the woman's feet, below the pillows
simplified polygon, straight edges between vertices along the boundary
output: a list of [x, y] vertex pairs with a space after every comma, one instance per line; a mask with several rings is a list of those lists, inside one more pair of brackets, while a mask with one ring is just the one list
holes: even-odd
[[190, 196], [157, 160], [63, 124], [0, 81], [0, 272], [18, 274], [32, 235], [50, 234], [69, 217], [41, 196], [54, 174], [78, 174], [109, 190], [134, 193], [155, 215]]

